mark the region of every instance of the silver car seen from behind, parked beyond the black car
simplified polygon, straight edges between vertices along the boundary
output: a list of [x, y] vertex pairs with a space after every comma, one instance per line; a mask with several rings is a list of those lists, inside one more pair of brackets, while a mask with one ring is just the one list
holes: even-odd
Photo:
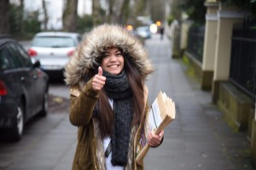
[[81, 41], [81, 35], [73, 32], [39, 32], [28, 49], [32, 62], [39, 60], [41, 68], [50, 78], [62, 77], [68, 59]]

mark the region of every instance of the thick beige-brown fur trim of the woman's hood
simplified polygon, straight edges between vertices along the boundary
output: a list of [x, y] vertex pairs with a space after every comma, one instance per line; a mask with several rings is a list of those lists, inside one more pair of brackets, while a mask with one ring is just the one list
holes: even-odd
[[84, 35], [84, 39], [75, 49], [65, 68], [67, 85], [83, 82], [88, 72], [96, 70], [100, 65], [98, 62], [105, 49], [111, 47], [121, 48], [129, 54], [143, 81], [154, 71], [148, 59], [148, 51], [137, 37], [131, 35], [124, 27], [104, 24]]

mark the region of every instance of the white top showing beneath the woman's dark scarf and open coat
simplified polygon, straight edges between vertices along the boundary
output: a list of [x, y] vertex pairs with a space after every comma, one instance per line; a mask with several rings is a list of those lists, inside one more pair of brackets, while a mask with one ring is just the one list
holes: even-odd
[[[109, 104], [111, 105], [111, 108], [113, 109], [113, 99], [108, 99]], [[110, 137], [108, 136], [107, 138], [103, 139], [103, 147], [104, 147], [104, 152], [108, 148], [108, 144], [110, 143]], [[106, 157], [106, 167], [107, 170], [124, 170], [124, 167], [122, 166], [113, 166], [111, 163], [111, 157], [112, 157], [112, 152]]]

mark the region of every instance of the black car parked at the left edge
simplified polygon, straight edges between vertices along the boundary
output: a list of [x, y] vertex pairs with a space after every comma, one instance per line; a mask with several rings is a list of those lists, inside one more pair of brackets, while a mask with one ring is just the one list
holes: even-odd
[[20, 140], [25, 123], [47, 115], [48, 76], [26, 50], [9, 36], [0, 35], [0, 133]]

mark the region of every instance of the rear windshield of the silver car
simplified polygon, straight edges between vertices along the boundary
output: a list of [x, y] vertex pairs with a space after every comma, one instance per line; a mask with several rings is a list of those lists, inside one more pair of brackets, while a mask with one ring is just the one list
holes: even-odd
[[71, 37], [35, 37], [32, 41], [34, 47], [44, 48], [70, 48], [75, 47]]

